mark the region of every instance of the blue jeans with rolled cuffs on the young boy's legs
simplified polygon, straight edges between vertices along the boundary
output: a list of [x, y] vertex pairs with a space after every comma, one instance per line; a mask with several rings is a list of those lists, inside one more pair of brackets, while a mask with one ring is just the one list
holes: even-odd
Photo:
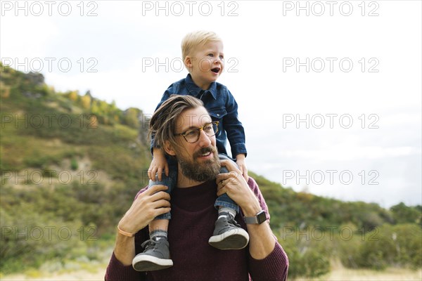
[[[220, 160], [227, 159], [227, 160], [233, 161], [227, 155], [224, 155], [222, 153], [220, 153], [218, 156]], [[169, 176], [166, 176], [165, 173], [163, 172], [161, 181], [158, 181], [158, 174], [156, 174], [155, 175], [156, 181], [150, 180], [148, 188], [150, 188], [151, 185], [165, 185], [168, 188], [167, 190], [165, 190], [165, 192], [169, 194], [172, 193], [173, 188], [175, 188], [177, 185], [177, 161], [175, 159], [167, 158], [167, 163], [169, 164]], [[222, 166], [219, 172], [220, 174], [229, 173], [229, 170], [226, 169], [225, 166]], [[228, 208], [234, 209], [236, 213], [239, 212], [238, 204], [236, 204], [236, 202], [231, 200], [229, 195], [227, 195], [226, 193], [217, 197], [217, 200], [215, 200], [214, 207], [216, 209], [218, 209], [218, 207], [228, 207]], [[154, 219], [170, 219], [170, 218], [172, 218], [172, 215], [170, 214], [170, 212], [168, 212], [160, 216], [156, 216]]]

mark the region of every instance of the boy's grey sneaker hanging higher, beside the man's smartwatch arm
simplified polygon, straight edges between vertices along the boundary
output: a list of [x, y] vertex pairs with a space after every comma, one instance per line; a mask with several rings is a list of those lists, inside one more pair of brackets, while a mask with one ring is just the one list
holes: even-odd
[[225, 216], [215, 222], [214, 233], [208, 243], [220, 250], [243, 249], [249, 242], [248, 233], [229, 214], [222, 214]]

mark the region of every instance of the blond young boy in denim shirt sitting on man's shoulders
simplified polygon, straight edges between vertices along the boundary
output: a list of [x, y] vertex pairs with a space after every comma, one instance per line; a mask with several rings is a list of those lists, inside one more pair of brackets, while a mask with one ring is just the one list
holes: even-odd
[[[231, 155], [236, 158], [236, 164], [248, 181], [248, 169], [245, 165], [245, 133], [238, 120], [238, 105], [226, 86], [216, 82], [224, 70], [222, 39], [214, 32], [191, 32], [182, 40], [181, 51], [184, 65], [189, 74], [185, 79], [170, 85], [157, 108], [172, 94], [191, 95], [202, 100], [212, 121], [218, 122], [210, 124], [210, 126], [215, 126], [213, 129], [217, 132], [216, 141], [220, 159], [229, 159], [226, 156], [225, 147], [228, 138]], [[205, 128], [203, 130], [205, 131]], [[211, 131], [211, 128], [207, 130]], [[191, 133], [196, 135], [195, 130], [192, 131]], [[185, 141], [193, 143], [198, 141], [196, 137], [186, 138], [186, 132], [184, 133]], [[155, 147], [153, 141], [151, 148], [153, 161], [148, 169], [148, 176], [151, 179], [149, 185], [166, 185], [167, 192], [171, 192], [177, 184], [177, 162], [174, 159], [166, 159], [164, 152]], [[220, 172], [227, 173], [228, 170], [222, 167]], [[238, 205], [224, 194], [217, 198], [215, 207], [218, 210], [218, 218], [214, 233], [208, 241], [209, 244], [217, 249], [243, 249], [246, 247], [249, 235], [234, 219], [239, 211]], [[142, 245], [145, 248], [143, 253], [134, 257], [132, 266], [135, 270], [159, 270], [173, 265], [167, 242], [170, 217], [170, 213], [164, 214], [156, 217], [149, 224], [150, 240]]]

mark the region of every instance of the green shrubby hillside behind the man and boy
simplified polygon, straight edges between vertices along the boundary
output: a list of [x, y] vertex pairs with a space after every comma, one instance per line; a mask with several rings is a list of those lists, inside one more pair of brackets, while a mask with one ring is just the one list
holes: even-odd
[[[0, 273], [99, 259], [147, 182], [142, 111], [0, 69]], [[288, 252], [290, 277], [324, 275], [333, 257], [350, 268], [421, 267], [421, 206], [341, 202], [251, 175]]]

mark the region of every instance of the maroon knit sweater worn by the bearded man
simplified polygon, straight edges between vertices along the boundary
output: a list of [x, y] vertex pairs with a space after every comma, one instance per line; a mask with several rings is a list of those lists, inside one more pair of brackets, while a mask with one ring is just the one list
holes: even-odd
[[[269, 218], [267, 204], [257, 183], [250, 178], [248, 185], [257, 195]], [[144, 190], [145, 188], [140, 192]], [[174, 266], [141, 273], [132, 266], [123, 266], [113, 253], [105, 280], [286, 280], [288, 258], [279, 242], [274, 242], [274, 250], [261, 260], [250, 256], [249, 247], [241, 250], [219, 250], [208, 244], [217, 220], [217, 210], [214, 207], [216, 193], [217, 185], [214, 181], [192, 188], [174, 188], [172, 191], [172, 219], [168, 239]], [[246, 230], [242, 216], [243, 214], [238, 214], [236, 221]], [[136, 233], [136, 254], [142, 251], [141, 244], [148, 239], [148, 227]]]

